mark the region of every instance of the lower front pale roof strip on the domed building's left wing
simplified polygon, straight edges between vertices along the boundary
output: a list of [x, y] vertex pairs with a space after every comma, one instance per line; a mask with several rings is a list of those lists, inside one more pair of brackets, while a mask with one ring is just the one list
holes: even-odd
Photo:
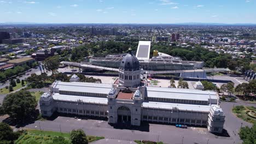
[[83, 97], [83, 96], [77, 96], [77, 95], [65, 95], [65, 94], [59, 94], [54, 93], [53, 94], [54, 100], [60, 100], [60, 101], [83, 101], [83, 103], [95, 103], [95, 104], [108, 104], [107, 98], [98, 98], [98, 97]]

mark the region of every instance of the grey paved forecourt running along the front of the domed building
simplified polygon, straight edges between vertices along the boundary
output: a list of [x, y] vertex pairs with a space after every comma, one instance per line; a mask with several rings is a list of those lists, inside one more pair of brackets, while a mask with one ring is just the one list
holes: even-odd
[[[99, 121], [92, 119], [75, 119], [72, 117], [57, 117], [53, 121], [36, 121], [28, 124], [25, 128], [31, 129], [42, 129], [69, 132], [72, 129], [82, 128], [88, 135], [104, 136], [106, 139], [133, 141], [133, 140], [151, 140], [151, 141], [164, 141], [165, 143], [241, 143], [240, 137], [238, 136], [238, 130], [241, 127], [248, 125], [252, 126], [251, 123], [247, 123], [237, 118], [231, 113], [231, 109], [234, 105], [251, 105], [246, 104], [242, 101], [238, 103], [221, 103], [222, 109], [225, 113], [225, 124], [224, 129], [228, 130], [230, 137], [216, 136], [208, 133], [206, 128], [194, 128], [188, 127], [188, 129], [176, 128], [173, 125], [165, 124], [151, 124], [142, 123], [141, 127], [134, 129], [132, 133], [131, 129], [122, 129], [112, 127], [107, 121]], [[3, 118], [1, 119], [3, 120]], [[102, 142], [104, 143], [104, 142]], [[113, 142], [114, 143], [114, 142]], [[119, 143], [116, 141], [116, 143]]]

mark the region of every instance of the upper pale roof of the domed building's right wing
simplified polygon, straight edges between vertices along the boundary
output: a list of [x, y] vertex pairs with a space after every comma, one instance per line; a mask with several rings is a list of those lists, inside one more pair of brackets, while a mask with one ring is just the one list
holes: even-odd
[[208, 101], [211, 97], [211, 99], [217, 100], [216, 92], [212, 91], [164, 87], [147, 87], [147, 97], [202, 101]]

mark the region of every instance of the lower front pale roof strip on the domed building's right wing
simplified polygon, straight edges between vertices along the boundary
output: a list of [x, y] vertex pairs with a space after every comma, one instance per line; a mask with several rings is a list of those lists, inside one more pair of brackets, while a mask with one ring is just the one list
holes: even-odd
[[176, 103], [160, 103], [160, 102], [143, 102], [143, 108], [154, 108], [154, 109], [178, 109], [178, 110], [188, 110], [188, 111], [201, 111], [209, 112], [211, 109], [210, 105], [189, 105], [189, 104], [176, 104]]

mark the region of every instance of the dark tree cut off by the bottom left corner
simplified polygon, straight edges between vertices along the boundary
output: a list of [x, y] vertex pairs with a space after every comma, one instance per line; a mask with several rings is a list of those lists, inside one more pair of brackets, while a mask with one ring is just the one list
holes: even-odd
[[14, 133], [13, 129], [6, 123], [0, 123], [0, 143], [13, 143], [16, 139], [18, 139], [19, 134]]

